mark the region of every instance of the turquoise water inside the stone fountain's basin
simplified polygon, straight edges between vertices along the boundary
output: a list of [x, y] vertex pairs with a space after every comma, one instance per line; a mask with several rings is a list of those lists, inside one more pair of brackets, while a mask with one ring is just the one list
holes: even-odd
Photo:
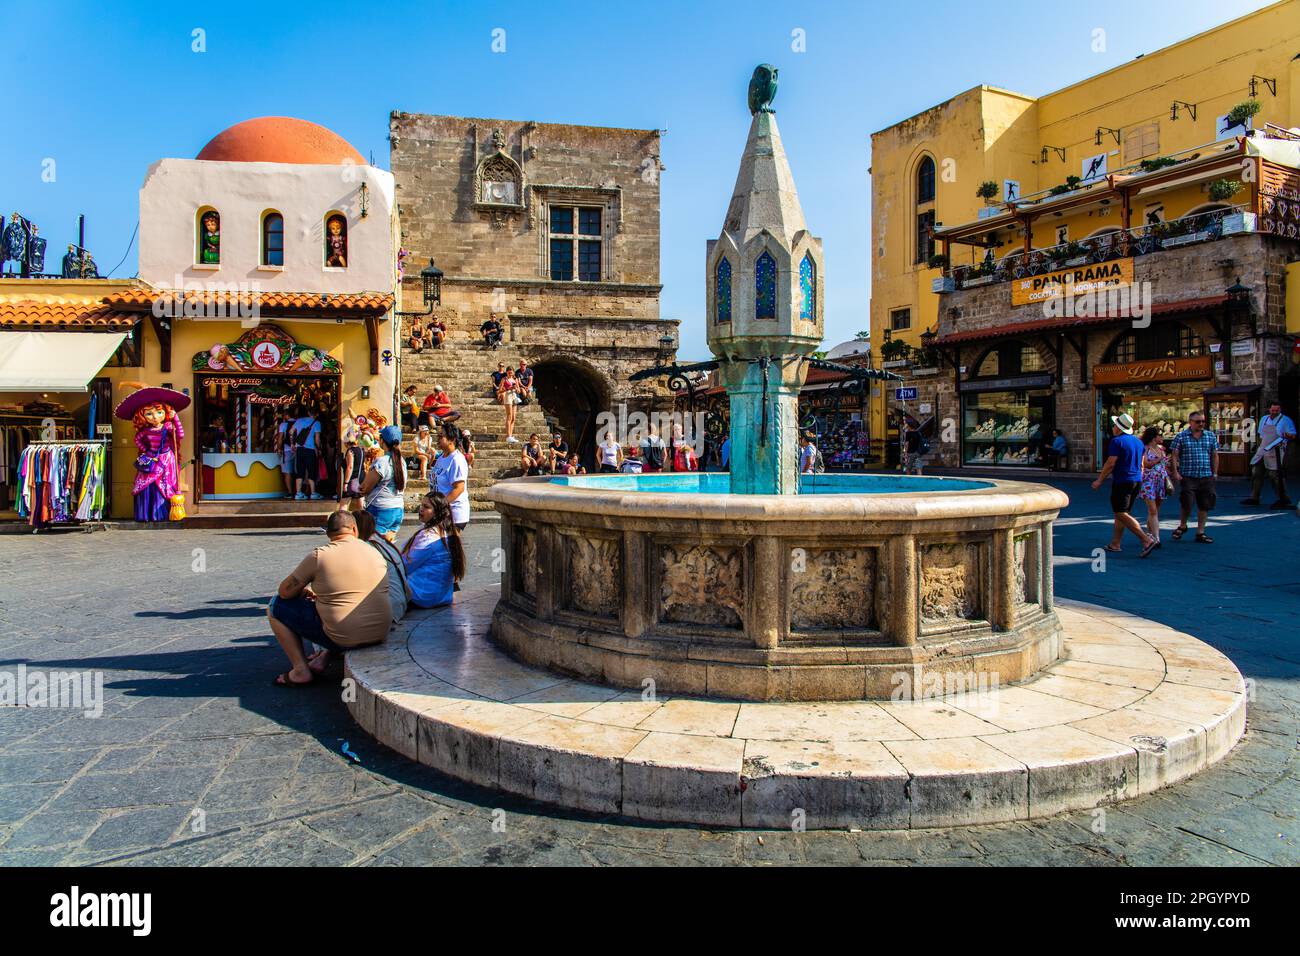
[[[731, 493], [731, 475], [724, 471], [575, 475], [572, 477], [552, 477], [551, 481], [571, 488], [599, 488], [610, 492]], [[803, 475], [800, 477], [800, 494], [920, 494], [926, 492], [974, 492], [992, 486], [992, 481], [974, 479], [907, 477], [904, 475]]]

